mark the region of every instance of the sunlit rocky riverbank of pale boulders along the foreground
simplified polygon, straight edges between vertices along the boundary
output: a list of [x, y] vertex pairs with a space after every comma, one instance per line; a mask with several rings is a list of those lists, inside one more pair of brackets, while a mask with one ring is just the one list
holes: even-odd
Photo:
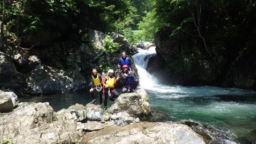
[[[13, 95], [15, 94], [10, 95], [1, 91], [0, 106], [5, 105], [6, 102], [11, 104], [12, 101], [8, 99]], [[165, 123], [144, 121], [150, 117], [154, 117], [154, 114], [152, 115], [144, 89], [139, 89], [137, 93], [121, 94], [106, 111], [99, 105], [76, 104], [56, 113], [47, 102], [22, 102], [14, 106], [9, 113], [0, 114], [0, 142], [9, 142], [9, 144], [205, 143], [202, 136], [185, 124], [171, 121]]]

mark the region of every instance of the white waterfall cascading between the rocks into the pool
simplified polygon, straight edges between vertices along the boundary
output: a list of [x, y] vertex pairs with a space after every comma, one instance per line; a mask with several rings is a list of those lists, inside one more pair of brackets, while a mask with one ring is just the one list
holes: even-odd
[[[139, 53], [132, 56], [135, 66], [138, 69], [139, 87], [143, 89], [151, 89], [159, 84], [159, 80], [146, 71], [148, 58], [150, 58], [152, 54], [156, 54], [155, 48], [155, 46], [148, 50], [138, 48]], [[145, 59], [146, 57], [147, 59]]]

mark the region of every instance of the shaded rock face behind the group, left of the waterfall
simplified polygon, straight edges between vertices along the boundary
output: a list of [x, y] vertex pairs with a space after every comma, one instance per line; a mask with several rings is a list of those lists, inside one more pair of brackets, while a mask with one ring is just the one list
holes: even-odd
[[[88, 36], [95, 41], [94, 46], [88, 43], [78, 45], [69, 40], [44, 46], [42, 41], [48, 39], [40, 39], [34, 44], [41, 43], [41, 46], [24, 49], [9, 42], [0, 52], [0, 89], [15, 92], [18, 96], [83, 91], [90, 83], [92, 68], [101, 69], [101, 72], [111, 68], [117, 76], [120, 51], [137, 52], [134, 47], [126, 45], [118, 52], [105, 53], [100, 46], [106, 34], [89, 29]], [[123, 43], [123, 35], [112, 33], [111, 37], [115, 42]], [[37, 42], [37, 37], [30, 40], [31, 43]]]

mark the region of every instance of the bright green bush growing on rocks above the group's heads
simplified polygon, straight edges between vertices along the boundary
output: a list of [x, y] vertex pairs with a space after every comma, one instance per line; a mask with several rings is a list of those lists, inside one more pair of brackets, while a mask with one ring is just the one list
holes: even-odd
[[113, 40], [111, 39], [110, 36], [106, 36], [104, 39], [104, 42], [102, 43], [102, 47], [101, 49], [105, 52], [105, 53], [113, 53], [118, 51], [118, 49], [120, 48], [120, 44], [119, 43], [115, 43], [113, 42]]

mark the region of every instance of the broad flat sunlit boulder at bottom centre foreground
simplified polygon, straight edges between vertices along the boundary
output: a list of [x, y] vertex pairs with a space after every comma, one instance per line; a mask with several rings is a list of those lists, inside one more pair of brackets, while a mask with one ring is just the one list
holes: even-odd
[[205, 144], [188, 126], [174, 122], [141, 122], [85, 133], [80, 144]]

